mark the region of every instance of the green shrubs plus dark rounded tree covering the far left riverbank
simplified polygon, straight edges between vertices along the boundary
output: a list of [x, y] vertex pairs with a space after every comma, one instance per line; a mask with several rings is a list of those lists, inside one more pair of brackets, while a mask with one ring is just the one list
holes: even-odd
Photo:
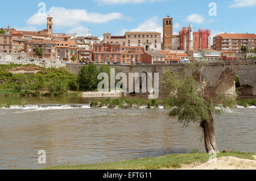
[[102, 65], [98, 71], [94, 64], [85, 65], [75, 75], [65, 67], [56, 69], [32, 64], [0, 65], [0, 96], [81, 95], [81, 91], [97, 91], [99, 73], [110, 74], [109, 66]]

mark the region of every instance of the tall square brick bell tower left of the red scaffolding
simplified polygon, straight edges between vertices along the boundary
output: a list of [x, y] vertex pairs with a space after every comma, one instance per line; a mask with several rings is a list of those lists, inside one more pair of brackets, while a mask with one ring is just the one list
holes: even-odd
[[167, 16], [167, 18], [163, 19], [163, 49], [172, 49], [172, 35], [173, 35], [173, 27], [172, 27], [172, 18]]

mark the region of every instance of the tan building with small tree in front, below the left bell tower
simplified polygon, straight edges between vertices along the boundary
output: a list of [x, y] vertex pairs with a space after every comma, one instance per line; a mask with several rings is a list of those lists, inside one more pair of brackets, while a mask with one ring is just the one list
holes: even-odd
[[52, 40], [28, 40], [24, 43], [24, 52], [28, 54], [28, 57], [37, 58], [35, 49], [38, 47], [44, 51], [43, 58], [48, 60], [55, 60], [55, 42]]

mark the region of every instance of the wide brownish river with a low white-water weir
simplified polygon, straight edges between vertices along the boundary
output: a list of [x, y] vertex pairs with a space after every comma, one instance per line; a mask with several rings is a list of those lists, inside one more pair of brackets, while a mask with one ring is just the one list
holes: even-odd
[[[23, 98], [1, 98], [1, 102]], [[137, 99], [137, 97], [136, 97]], [[204, 151], [199, 124], [184, 128], [170, 110], [89, 108], [88, 98], [28, 98], [0, 109], [0, 169], [38, 169]], [[40, 104], [39, 104], [40, 103]], [[256, 107], [226, 110], [216, 121], [222, 151], [256, 151]], [[38, 151], [46, 151], [46, 164]]]

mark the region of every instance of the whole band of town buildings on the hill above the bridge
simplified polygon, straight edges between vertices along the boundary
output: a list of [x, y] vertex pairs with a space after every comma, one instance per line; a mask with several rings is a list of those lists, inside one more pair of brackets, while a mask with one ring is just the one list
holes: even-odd
[[[209, 28], [196, 31], [190, 23], [174, 35], [173, 19], [163, 19], [160, 32], [104, 33], [103, 40], [77, 33], [53, 32], [53, 17], [47, 17], [47, 29], [38, 32], [19, 31], [8, 26], [0, 29], [1, 54], [23, 54], [66, 64], [181, 64], [191, 61], [236, 61], [255, 58], [254, 33], [220, 33], [213, 37]], [[247, 53], [245, 53], [247, 52]], [[242, 55], [241, 55], [242, 54]]]

